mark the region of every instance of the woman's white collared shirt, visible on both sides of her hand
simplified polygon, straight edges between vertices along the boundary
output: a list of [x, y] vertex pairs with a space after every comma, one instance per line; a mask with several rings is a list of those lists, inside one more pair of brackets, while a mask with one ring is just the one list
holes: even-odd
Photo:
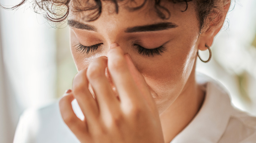
[[[202, 108], [171, 143], [256, 143], [256, 117], [235, 109], [220, 84], [205, 75], [197, 80], [205, 87]], [[73, 102], [76, 115], [83, 115]], [[58, 104], [28, 110], [20, 118], [14, 143], [78, 143], [61, 119]]]

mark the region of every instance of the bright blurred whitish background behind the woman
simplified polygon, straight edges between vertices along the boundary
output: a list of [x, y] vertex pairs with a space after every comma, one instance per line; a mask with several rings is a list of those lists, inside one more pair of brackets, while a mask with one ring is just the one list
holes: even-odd
[[[20, 0], [0, 0], [11, 6]], [[27, 108], [56, 102], [71, 88], [76, 68], [66, 23], [48, 24], [30, 3], [0, 9], [0, 142], [11, 143], [19, 116]], [[219, 80], [232, 103], [256, 116], [256, 1], [234, 0], [212, 46], [209, 63], [197, 71]], [[57, 28], [56, 28], [57, 27]], [[200, 52], [207, 59], [208, 51]]]

